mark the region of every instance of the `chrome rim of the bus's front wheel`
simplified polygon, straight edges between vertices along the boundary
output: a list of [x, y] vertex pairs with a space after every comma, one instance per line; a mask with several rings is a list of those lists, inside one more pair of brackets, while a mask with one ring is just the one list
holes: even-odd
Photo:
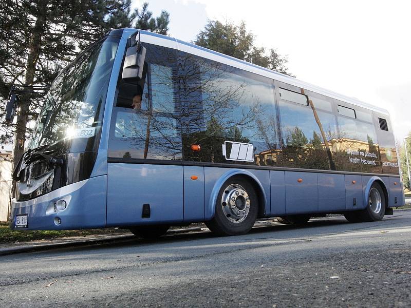
[[229, 221], [239, 223], [247, 218], [250, 211], [250, 197], [242, 186], [231, 184], [222, 193], [221, 207]]

